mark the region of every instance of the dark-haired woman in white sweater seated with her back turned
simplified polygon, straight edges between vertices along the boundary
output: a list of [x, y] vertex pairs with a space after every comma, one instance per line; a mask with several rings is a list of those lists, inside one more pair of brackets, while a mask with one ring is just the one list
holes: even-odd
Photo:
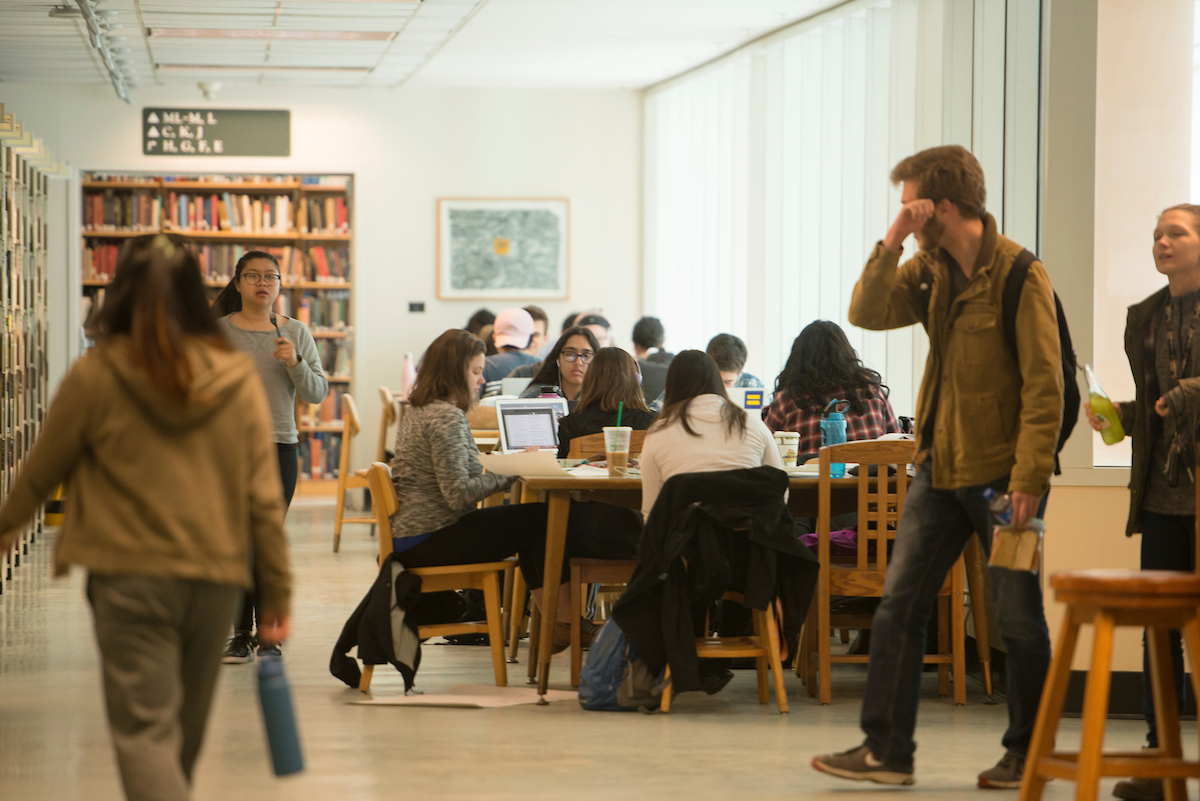
[[762, 420], [730, 401], [708, 354], [684, 350], [671, 361], [665, 401], [642, 450], [643, 517], [666, 480], [677, 474], [763, 464], [784, 469], [775, 438]]

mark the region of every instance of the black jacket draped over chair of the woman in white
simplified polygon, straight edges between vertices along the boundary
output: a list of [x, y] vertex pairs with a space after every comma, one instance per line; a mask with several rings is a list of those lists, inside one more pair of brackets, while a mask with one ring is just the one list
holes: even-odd
[[732, 590], [746, 607], [767, 609], [778, 596], [784, 637], [799, 633], [818, 570], [786, 490], [787, 474], [769, 466], [682, 474], [662, 484], [612, 616], [652, 671], [671, 666], [674, 692], [700, 689], [694, 603]]

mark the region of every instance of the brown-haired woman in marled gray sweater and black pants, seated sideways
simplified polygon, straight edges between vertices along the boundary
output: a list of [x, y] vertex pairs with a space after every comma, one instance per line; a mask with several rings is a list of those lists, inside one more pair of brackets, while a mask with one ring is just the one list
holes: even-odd
[[[514, 481], [511, 476], [485, 474], [479, 463], [467, 411], [482, 383], [484, 343], [466, 331], [446, 331], [425, 353], [409, 396], [412, 408], [396, 432], [391, 474], [400, 508], [391, 519], [394, 550], [406, 567], [496, 561], [520, 554], [521, 571], [540, 606], [547, 578], [542, 576], [546, 505], [475, 507]], [[640, 535], [641, 519], [634, 510], [571, 504], [566, 554], [634, 559]], [[557, 582], [548, 577], [552, 588], [560, 584], [556, 651], [570, 640], [566, 559], [563, 568]], [[584, 643], [594, 632], [590, 621], [584, 621]]]

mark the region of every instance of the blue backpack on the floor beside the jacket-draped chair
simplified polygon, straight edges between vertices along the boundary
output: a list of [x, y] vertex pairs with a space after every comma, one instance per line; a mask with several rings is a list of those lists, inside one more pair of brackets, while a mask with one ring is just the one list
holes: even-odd
[[662, 700], [660, 685], [620, 626], [606, 620], [580, 671], [580, 706], [604, 712], [654, 711]]

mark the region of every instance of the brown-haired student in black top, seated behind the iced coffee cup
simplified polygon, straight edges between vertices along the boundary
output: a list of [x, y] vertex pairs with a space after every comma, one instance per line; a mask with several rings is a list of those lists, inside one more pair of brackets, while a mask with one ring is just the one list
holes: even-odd
[[620, 348], [601, 348], [583, 375], [578, 405], [558, 423], [558, 458], [566, 458], [576, 436], [599, 434], [605, 426], [616, 426], [618, 404], [622, 426], [646, 430], [654, 422], [655, 415], [642, 395], [637, 362]]

